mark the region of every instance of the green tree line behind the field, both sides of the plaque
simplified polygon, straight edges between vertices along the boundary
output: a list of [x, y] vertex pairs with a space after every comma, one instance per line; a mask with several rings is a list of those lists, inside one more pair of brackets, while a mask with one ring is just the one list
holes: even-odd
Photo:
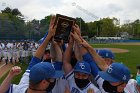
[[[17, 9], [5, 8], [0, 13], [0, 39], [34, 39], [39, 40], [48, 31], [51, 15], [41, 20], [33, 19], [25, 22], [24, 16]], [[82, 18], [76, 18], [76, 24], [83, 36], [121, 36], [127, 32], [131, 38], [140, 38], [140, 20], [120, 25], [117, 18], [102, 18], [98, 21], [86, 23]], [[22, 32], [22, 33], [21, 33]], [[8, 33], [8, 34], [7, 34]]]

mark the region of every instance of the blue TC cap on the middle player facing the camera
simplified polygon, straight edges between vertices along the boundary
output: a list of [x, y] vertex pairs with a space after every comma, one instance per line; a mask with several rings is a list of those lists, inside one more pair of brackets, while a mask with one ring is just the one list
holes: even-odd
[[88, 62], [78, 61], [74, 67], [75, 72], [91, 74], [91, 67]]

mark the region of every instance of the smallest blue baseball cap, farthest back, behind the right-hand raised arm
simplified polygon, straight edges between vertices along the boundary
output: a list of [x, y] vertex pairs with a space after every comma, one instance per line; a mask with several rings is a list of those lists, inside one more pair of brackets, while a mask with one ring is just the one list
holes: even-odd
[[111, 50], [108, 49], [101, 49], [101, 50], [96, 50], [96, 52], [102, 57], [102, 58], [110, 58], [110, 59], [115, 59], [114, 53]]

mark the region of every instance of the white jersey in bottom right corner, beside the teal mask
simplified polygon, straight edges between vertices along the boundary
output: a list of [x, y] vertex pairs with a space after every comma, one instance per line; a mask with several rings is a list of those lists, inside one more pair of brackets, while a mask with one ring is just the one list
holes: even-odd
[[125, 93], [140, 93], [136, 85], [137, 81], [135, 79], [130, 79], [124, 89]]

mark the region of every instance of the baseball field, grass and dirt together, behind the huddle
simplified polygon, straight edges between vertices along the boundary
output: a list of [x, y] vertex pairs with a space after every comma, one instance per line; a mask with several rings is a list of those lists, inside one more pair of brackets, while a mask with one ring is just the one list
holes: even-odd
[[[91, 44], [91, 45], [94, 48], [108, 48], [112, 50], [115, 53], [115, 61], [121, 62], [125, 64], [126, 66], [128, 66], [130, 68], [131, 74], [133, 75], [133, 78], [135, 78], [135, 75], [137, 72], [136, 65], [140, 64], [140, 43]], [[22, 73], [13, 79], [12, 83], [16, 83], [16, 84], [18, 84], [28, 64], [18, 63], [17, 65], [21, 66]], [[0, 64], [0, 67], [1, 66], [2, 64]], [[4, 80], [4, 78], [6, 77], [8, 73], [8, 70], [11, 67], [12, 66], [4, 67], [6, 70], [2, 70], [3, 67], [0, 68], [0, 71], [2, 71], [1, 74], [4, 74], [0, 78], [0, 83]]]

